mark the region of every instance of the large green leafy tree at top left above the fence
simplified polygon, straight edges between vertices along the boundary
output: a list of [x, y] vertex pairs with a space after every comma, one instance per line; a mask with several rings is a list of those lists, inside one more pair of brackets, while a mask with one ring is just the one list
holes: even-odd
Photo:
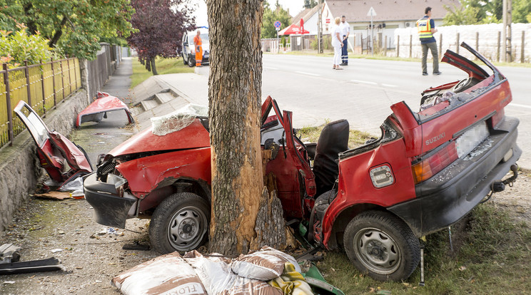
[[[102, 37], [128, 36], [133, 9], [129, 0], [3, 0], [13, 19], [49, 47], [79, 58], [96, 58]], [[3, 21], [3, 22], [2, 22]], [[0, 24], [12, 26], [11, 19]]]

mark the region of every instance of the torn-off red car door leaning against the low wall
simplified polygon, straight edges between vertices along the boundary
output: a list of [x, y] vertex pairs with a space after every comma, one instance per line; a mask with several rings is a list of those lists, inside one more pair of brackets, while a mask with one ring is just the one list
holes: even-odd
[[27, 103], [19, 101], [14, 112], [34, 138], [39, 162], [51, 179], [64, 185], [76, 177], [92, 172], [89, 158], [83, 148], [60, 133], [50, 131]]

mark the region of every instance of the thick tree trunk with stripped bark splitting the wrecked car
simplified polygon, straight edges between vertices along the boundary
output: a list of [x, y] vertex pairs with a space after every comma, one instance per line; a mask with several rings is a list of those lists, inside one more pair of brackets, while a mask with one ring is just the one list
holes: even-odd
[[256, 244], [258, 211], [261, 204], [271, 203], [263, 200], [269, 194], [263, 195], [260, 148], [263, 10], [260, 0], [208, 0], [207, 7], [212, 154], [208, 248], [231, 255]]

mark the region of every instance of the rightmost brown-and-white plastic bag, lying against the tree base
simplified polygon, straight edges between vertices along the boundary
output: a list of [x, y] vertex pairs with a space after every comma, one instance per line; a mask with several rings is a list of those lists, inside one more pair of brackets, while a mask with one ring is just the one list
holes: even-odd
[[300, 266], [291, 255], [271, 247], [262, 247], [258, 252], [240, 255], [234, 259], [232, 271], [245, 278], [269, 281], [282, 274], [286, 262], [293, 264], [295, 270], [300, 272]]

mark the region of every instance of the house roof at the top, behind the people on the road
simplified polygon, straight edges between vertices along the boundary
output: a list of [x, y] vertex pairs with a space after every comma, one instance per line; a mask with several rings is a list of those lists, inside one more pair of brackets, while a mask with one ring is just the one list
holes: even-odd
[[459, 0], [326, 0], [333, 17], [346, 16], [349, 23], [370, 21], [367, 16], [373, 6], [373, 21], [411, 21], [424, 16], [424, 9], [432, 8], [432, 19], [442, 19], [444, 5], [460, 7]]

